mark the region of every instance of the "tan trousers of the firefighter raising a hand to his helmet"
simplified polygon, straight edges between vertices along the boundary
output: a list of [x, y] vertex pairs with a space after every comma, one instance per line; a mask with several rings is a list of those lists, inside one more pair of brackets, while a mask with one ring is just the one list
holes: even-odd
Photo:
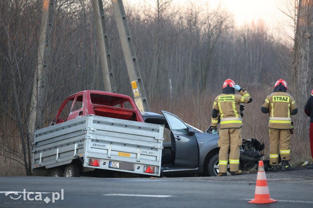
[[219, 172], [227, 173], [228, 150], [229, 153], [229, 169], [231, 172], [239, 170], [240, 146], [242, 145], [242, 129], [221, 129], [219, 131], [218, 147], [218, 166]]

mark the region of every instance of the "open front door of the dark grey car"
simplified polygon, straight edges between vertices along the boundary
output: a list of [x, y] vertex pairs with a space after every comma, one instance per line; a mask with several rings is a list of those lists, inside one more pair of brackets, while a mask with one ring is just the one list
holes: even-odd
[[[199, 148], [194, 129], [172, 113], [161, 111], [171, 130], [174, 167], [196, 167], [199, 164]], [[192, 151], [191, 151], [192, 150]]]

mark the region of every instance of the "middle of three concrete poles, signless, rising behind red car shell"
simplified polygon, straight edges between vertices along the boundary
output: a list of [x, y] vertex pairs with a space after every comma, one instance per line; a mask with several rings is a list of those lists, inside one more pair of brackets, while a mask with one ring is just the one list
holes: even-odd
[[96, 32], [100, 51], [104, 89], [107, 92], [116, 93], [110, 57], [109, 41], [106, 35], [103, 3], [102, 0], [91, 0], [91, 2], [96, 22]]

